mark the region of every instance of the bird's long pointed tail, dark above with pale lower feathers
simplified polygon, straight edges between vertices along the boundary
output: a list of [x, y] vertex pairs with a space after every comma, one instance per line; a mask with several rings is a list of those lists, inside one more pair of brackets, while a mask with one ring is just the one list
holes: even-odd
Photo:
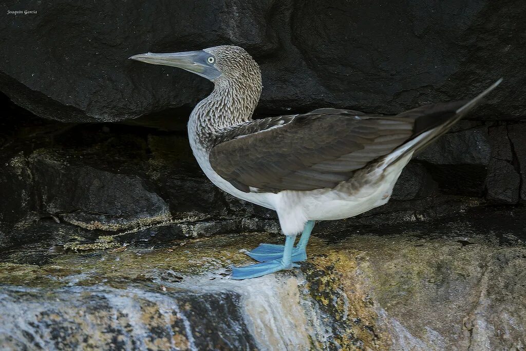
[[414, 118], [413, 136], [391, 153], [390, 160], [387, 163], [395, 163], [409, 152], [414, 154], [427, 147], [431, 142], [447, 132], [454, 123], [466, 116], [473, 107], [477, 106], [501, 82], [502, 78], [495, 81], [488, 89], [485, 89], [471, 100], [425, 105], [400, 113], [398, 117]]

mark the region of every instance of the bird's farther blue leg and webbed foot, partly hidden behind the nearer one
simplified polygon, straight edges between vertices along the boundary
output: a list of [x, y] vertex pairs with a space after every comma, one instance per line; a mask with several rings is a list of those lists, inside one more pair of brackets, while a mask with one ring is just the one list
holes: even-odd
[[[307, 260], [307, 243], [309, 242], [310, 232], [314, 228], [315, 221], [307, 221], [298, 245], [292, 250], [292, 262], [301, 262]], [[247, 252], [247, 255], [259, 262], [267, 262], [279, 259], [284, 252], [285, 246], [276, 244], [259, 244], [256, 249]]]

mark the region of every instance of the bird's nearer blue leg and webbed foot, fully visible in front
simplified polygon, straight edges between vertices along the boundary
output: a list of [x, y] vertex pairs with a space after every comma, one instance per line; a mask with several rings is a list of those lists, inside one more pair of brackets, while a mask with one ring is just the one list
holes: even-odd
[[292, 267], [299, 267], [297, 263], [292, 262], [292, 250], [294, 249], [295, 241], [296, 235], [287, 235], [280, 259], [251, 264], [245, 267], [234, 267], [232, 268], [231, 278], [238, 280], [249, 279], [282, 270], [290, 270]]

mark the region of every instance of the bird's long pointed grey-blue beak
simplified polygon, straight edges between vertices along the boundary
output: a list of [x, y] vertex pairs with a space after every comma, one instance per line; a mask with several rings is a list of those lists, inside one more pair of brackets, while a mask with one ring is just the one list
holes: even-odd
[[186, 69], [210, 80], [217, 78], [220, 72], [217, 68], [207, 62], [211, 55], [203, 50], [185, 51], [184, 53], [166, 54], [138, 54], [130, 56], [129, 59], [143, 61], [148, 64], [173, 66]]

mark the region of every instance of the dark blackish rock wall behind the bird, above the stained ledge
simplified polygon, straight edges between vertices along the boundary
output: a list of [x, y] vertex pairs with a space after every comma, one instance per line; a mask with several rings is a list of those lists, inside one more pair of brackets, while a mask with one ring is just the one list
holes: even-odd
[[[16, 244], [8, 232], [36, 220], [110, 232], [162, 225], [192, 236], [278, 232], [274, 213], [217, 190], [188, 149], [186, 119], [210, 82], [127, 59], [220, 44], [245, 47], [261, 65], [257, 116], [319, 107], [397, 113], [472, 97], [504, 77], [487, 104], [414, 158], [388, 205], [353, 221], [414, 221], [473, 204], [526, 203], [520, 2], [0, 7], [2, 245]], [[7, 14], [17, 9], [37, 13]], [[319, 228], [337, 231], [345, 223]]]

